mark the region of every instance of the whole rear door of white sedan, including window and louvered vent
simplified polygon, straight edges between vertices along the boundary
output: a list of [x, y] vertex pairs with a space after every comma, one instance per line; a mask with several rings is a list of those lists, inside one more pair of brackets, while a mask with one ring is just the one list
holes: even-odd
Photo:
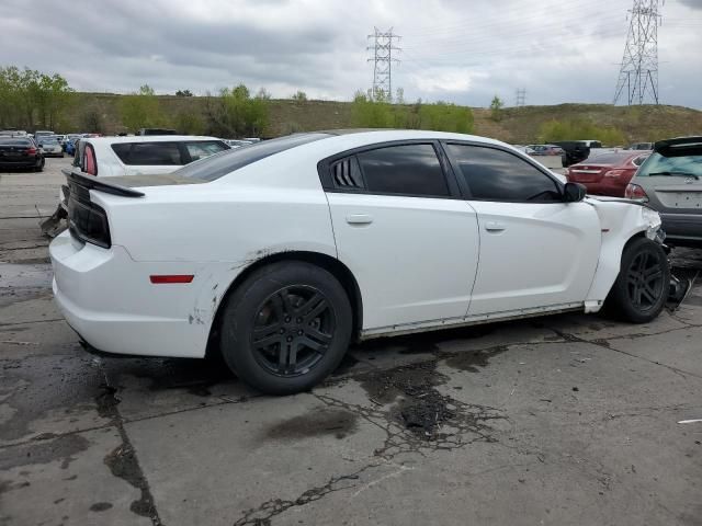
[[467, 309], [477, 219], [438, 148], [376, 145], [319, 164], [339, 260], [359, 284], [365, 330], [462, 318]]

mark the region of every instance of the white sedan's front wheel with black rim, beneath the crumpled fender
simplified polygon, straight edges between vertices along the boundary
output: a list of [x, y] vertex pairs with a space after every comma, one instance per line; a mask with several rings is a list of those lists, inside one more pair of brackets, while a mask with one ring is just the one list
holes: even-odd
[[612, 315], [634, 323], [655, 319], [668, 298], [670, 268], [659, 243], [647, 238], [630, 242], [608, 298]]

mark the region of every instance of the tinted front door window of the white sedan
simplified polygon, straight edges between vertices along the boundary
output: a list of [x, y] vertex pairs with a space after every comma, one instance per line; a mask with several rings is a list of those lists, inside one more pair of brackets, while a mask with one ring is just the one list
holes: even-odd
[[512, 153], [479, 146], [448, 148], [476, 199], [561, 201], [554, 180]]

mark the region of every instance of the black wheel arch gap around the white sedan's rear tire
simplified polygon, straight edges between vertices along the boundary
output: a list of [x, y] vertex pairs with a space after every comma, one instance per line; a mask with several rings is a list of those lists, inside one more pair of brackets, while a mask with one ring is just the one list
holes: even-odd
[[241, 271], [229, 284], [213, 317], [213, 322], [210, 328], [210, 336], [207, 339], [207, 347], [205, 354], [206, 356], [213, 356], [219, 352], [219, 339], [217, 338], [219, 333], [219, 325], [222, 323], [222, 316], [224, 313], [226, 302], [231, 294], [238, 287], [240, 287], [241, 284], [246, 282], [246, 279], [256, 271], [270, 264], [279, 263], [281, 261], [302, 261], [319, 266], [320, 268], [324, 268], [331, 273], [339, 281], [339, 283], [346, 290], [347, 296], [349, 297], [349, 301], [351, 302], [351, 311], [353, 313], [352, 338], [358, 338], [361, 332], [361, 328], [363, 327], [363, 299], [361, 296], [361, 288], [359, 287], [359, 284], [349, 267], [338, 259], [332, 258], [328, 254], [322, 254], [320, 252], [286, 251], [265, 255], [254, 261], [244, 271]]

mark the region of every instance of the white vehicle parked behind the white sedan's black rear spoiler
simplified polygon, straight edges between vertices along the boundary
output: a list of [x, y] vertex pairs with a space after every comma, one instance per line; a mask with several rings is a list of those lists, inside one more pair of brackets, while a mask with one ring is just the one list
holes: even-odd
[[226, 149], [220, 139], [193, 135], [89, 137], [80, 140], [77, 162], [100, 178], [168, 173]]

